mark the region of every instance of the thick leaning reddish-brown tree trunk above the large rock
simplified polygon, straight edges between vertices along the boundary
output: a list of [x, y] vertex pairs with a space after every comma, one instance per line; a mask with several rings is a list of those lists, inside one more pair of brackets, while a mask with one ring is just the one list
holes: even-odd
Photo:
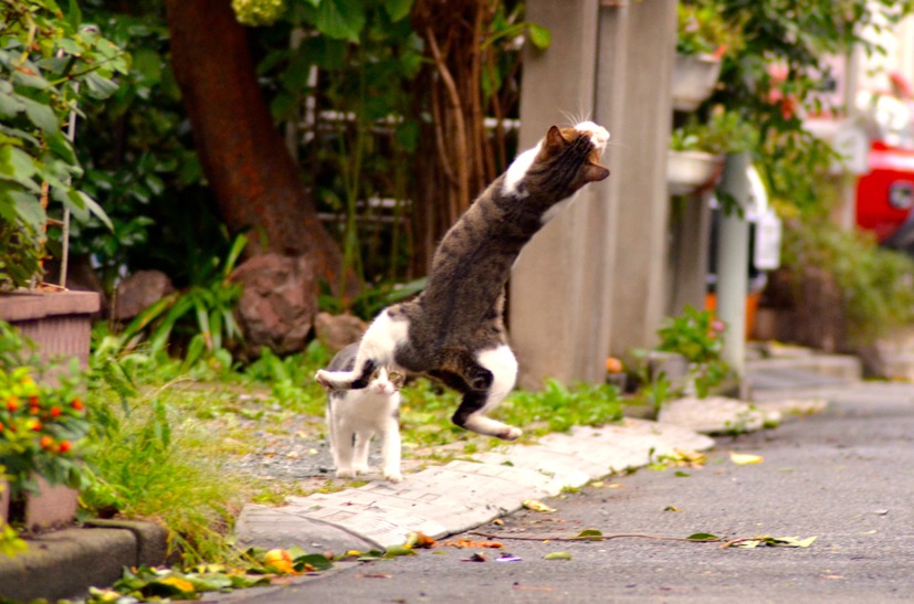
[[[261, 94], [244, 27], [229, 0], [166, 0], [171, 63], [222, 219], [253, 229], [249, 254], [306, 255], [335, 286], [339, 246], [317, 219]], [[264, 240], [258, 245], [262, 233]], [[349, 289], [347, 287], [347, 289]]]

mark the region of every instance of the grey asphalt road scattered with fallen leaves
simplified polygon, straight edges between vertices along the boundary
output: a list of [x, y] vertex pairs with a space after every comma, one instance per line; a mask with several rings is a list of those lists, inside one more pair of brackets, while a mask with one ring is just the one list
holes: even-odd
[[[524, 510], [504, 550], [439, 547], [338, 566], [231, 600], [284, 602], [914, 602], [914, 386], [836, 391], [822, 414], [721, 438], [703, 467], [641, 469]], [[737, 465], [731, 452], [763, 456]], [[807, 548], [722, 548], [640, 537], [817, 539]], [[481, 540], [475, 534], [455, 536]], [[548, 542], [508, 537], [551, 538]], [[486, 562], [469, 562], [484, 552]], [[496, 559], [509, 552], [518, 561]], [[570, 560], [545, 560], [567, 552]]]

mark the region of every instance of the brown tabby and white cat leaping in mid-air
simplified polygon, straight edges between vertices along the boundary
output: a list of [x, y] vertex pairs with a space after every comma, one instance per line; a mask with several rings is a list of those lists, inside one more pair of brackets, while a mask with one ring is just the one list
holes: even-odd
[[380, 367], [426, 373], [463, 394], [454, 424], [506, 441], [522, 432], [486, 416], [514, 388], [517, 361], [503, 322], [505, 283], [524, 245], [588, 182], [609, 170], [609, 133], [584, 121], [553, 126], [448, 231], [426, 289], [382, 310], [348, 371], [319, 370], [328, 390], [363, 389]]

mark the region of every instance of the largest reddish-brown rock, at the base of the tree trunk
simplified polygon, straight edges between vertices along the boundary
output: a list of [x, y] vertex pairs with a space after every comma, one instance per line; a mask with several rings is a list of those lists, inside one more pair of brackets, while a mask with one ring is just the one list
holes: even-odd
[[304, 350], [317, 312], [317, 279], [307, 257], [254, 256], [231, 279], [244, 286], [237, 316], [249, 354], [264, 346], [277, 354]]

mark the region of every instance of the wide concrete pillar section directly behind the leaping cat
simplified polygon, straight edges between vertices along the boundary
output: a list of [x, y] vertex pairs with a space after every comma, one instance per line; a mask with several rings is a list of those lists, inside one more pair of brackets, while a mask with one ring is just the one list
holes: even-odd
[[[534, 146], [554, 124], [591, 117], [598, 17], [596, 0], [527, 1], [526, 18], [548, 27], [553, 40], [546, 51], [528, 45], [524, 56], [521, 149]], [[601, 125], [612, 135], [611, 124]], [[533, 239], [514, 267], [508, 328], [524, 388], [538, 389], [546, 378], [602, 378], [608, 335], [599, 327], [606, 308], [598, 300], [607, 298], [611, 280], [602, 266], [611, 229], [607, 197], [607, 181], [585, 187], [577, 201]]]

